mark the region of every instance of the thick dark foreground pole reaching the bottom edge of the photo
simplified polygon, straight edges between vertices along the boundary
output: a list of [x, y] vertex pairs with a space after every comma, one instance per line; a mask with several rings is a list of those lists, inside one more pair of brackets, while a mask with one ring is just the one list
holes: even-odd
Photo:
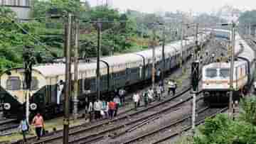
[[63, 144], [68, 144], [69, 131], [69, 98], [71, 95], [71, 65], [70, 65], [70, 38], [72, 14], [68, 13], [68, 26], [65, 26], [65, 115], [63, 119]]

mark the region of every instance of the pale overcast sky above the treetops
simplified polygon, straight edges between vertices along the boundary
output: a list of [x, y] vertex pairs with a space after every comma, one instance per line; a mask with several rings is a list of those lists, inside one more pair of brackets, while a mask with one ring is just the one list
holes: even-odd
[[[91, 6], [107, 0], [87, 0]], [[210, 12], [216, 11], [226, 4], [244, 10], [256, 9], [256, 0], [108, 0], [112, 6], [121, 11], [133, 9], [147, 13], [158, 11], [193, 11]]]

